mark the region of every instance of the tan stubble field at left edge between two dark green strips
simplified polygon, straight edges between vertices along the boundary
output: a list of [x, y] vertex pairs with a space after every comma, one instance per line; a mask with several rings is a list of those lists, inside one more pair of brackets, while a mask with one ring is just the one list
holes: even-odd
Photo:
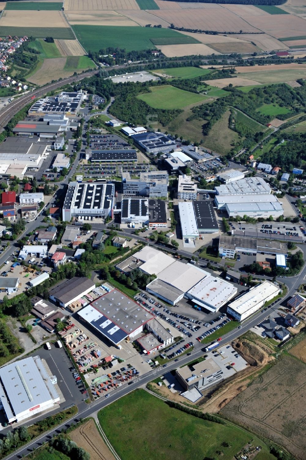
[[46, 27], [68, 28], [69, 24], [62, 11], [3, 11], [0, 19], [2, 27]]

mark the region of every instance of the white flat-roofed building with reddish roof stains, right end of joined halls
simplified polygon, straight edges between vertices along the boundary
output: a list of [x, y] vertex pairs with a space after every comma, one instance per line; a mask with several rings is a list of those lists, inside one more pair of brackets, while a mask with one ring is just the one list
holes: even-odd
[[237, 294], [237, 287], [210, 273], [187, 293], [186, 297], [205, 310], [216, 312]]

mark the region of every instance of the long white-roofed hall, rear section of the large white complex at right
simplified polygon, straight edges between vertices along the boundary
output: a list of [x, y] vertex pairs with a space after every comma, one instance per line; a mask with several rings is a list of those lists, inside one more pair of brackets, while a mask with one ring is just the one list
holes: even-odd
[[270, 185], [262, 177], [246, 177], [214, 188], [217, 195], [266, 195]]

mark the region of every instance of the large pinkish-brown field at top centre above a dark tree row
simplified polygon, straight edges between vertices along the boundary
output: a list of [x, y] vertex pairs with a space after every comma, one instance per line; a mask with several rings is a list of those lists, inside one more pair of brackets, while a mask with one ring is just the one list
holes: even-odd
[[[219, 5], [214, 8], [186, 8], [173, 10], [155, 10], [154, 14], [176, 27], [187, 29], [217, 30], [219, 32], [258, 32], [252, 25], [231, 11]], [[287, 15], [283, 15], [287, 16]], [[289, 15], [288, 15], [289, 16]]]

